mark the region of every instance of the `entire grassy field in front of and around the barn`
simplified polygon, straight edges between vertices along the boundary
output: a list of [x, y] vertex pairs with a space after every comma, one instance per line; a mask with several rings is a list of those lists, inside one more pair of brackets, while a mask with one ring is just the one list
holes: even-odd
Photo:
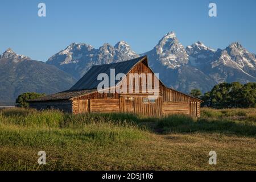
[[202, 109], [197, 120], [0, 110], [0, 170], [256, 170], [255, 154], [256, 109]]

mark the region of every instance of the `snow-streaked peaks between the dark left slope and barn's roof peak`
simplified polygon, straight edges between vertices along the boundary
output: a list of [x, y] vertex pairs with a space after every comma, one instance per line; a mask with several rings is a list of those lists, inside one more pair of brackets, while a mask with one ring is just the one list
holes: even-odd
[[108, 64], [138, 57], [126, 42], [118, 42], [115, 46], [104, 44], [96, 49], [88, 44], [72, 43], [63, 51], [50, 57], [46, 63], [55, 65], [63, 71], [81, 78], [92, 65]]

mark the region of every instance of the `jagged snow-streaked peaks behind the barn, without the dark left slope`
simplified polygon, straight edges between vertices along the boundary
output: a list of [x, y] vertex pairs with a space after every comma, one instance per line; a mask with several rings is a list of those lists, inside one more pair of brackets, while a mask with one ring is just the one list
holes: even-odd
[[72, 43], [50, 57], [46, 63], [55, 65], [77, 79], [94, 64], [108, 64], [147, 55], [150, 67], [160, 73], [168, 86], [189, 93], [198, 88], [207, 92], [220, 82], [256, 81], [256, 58], [239, 43], [214, 50], [202, 42], [183, 47], [174, 32], [169, 32], [148, 52], [135, 53], [124, 41], [115, 46], [104, 44], [95, 49], [88, 44]]

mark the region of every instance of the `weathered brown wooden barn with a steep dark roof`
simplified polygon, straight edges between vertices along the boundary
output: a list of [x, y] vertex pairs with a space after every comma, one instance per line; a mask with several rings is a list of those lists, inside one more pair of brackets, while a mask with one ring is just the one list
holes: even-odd
[[[99, 92], [97, 87], [101, 80], [98, 80], [98, 75], [104, 73], [111, 77], [111, 69], [115, 70], [115, 75], [124, 73], [123, 75], [127, 76], [115, 80], [114, 87], [119, 87], [119, 89], [128, 89], [129, 83], [134, 83], [135, 77], [129, 77], [130, 73], [154, 75], [154, 72], [148, 67], [146, 56], [118, 63], [94, 65], [71, 89], [30, 100], [28, 101], [30, 107], [60, 109], [74, 114], [124, 112], [158, 118], [170, 114], [200, 117], [201, 100], [168, 88], [157, 77], [146, 78], [146, 83], [139, 78], [137, 85], [135, 84], [133, 87], [133, 93], [117, 92], [115, 88], [114, 92], [102, 93], [103, 89]], [[153, 87], [158, 85], [158, 97], [153, 96], [152, 93], [143, 92], [143, 88], [147, 85]], [[109, 87], [108, 91], [110, 89], [113, 87]]]

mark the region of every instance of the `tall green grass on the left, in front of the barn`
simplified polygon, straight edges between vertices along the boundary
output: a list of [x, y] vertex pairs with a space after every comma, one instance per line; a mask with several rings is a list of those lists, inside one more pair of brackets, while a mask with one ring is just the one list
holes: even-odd
[[71, 115], [57, 110], [13, 109], [3, 110], [0, 120], [2, 145], [66, 146], [77, 141], [114, 143], [146, 138], [145, 131], [127, 114]]

